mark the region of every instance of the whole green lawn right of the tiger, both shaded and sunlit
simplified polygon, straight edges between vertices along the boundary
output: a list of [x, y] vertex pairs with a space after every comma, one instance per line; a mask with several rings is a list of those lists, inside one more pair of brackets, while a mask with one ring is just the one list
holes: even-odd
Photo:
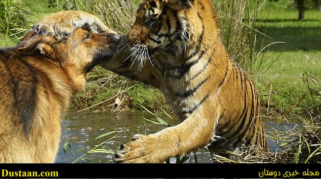
[[[270, 109], [292, 112], [294, 108], [312, 106], [309, 90], [302, 80], [308, 71], [321, 79], [321, 12], [308, 10], [303, 22], [297, 21], [298, 12], [284, 8], [281, 3], [266, 3], [259, 13], [258, 29], [272, 39], [258, 35], [257, 51], [272, 42], [249, 70], [272, 84], [252, 75], [261, 94], [261, 103]], [[262, 64], [260, 64], [262, 62]], [[264, 68], [262, 68], [264, 67]], [[318, 111], [320, 104], [314, 106]]]

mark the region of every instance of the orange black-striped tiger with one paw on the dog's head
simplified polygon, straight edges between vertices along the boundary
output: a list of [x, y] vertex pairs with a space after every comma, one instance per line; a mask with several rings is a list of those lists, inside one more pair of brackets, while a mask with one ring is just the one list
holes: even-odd
[[[93, 15], [66, 11], [38, 23], [37, 31], [61, 35], [77, 26], [106, 29], [97, 24], [102, 23]], [[118, 55], [101, 66], [158, 88], [181, 123], [134, 135], [119, 147], [114, 162], [162, 163], [201, 147], [268, 149], [258, 91], [229, 57], [210, 0], [141, 0], [135, 23], [121, 39]]]

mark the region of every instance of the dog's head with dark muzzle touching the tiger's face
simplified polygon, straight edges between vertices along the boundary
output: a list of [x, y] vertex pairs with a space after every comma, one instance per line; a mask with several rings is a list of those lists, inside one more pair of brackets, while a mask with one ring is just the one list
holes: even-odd
[[111, 59], [119, 41], [117, 34], [91, 33], [82, 28], [60, 40], [41, 34], [28, 38], [20, 42], [20, 53], [45, 55], [62, 68], [73, 68], [84, 75], [96, 65]]

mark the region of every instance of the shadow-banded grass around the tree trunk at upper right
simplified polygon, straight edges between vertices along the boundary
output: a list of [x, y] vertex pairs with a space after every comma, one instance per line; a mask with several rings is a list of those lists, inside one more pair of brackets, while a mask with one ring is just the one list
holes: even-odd
[[267, 9], [259, 13], [259, 30], [273, 39], [258, 35], [258, 41], [264, 41], [263, 47], [274, 41], [286, 44], [272, 45], [272, 51], [319, 51], [321, 50], [321, 12], [306, 11], [305, 20], [297, 21], [297, 10]]

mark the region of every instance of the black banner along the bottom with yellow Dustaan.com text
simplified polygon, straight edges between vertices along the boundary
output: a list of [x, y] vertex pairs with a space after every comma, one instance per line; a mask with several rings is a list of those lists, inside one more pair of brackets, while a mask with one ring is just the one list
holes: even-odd
[[0, 178], [41, 178], [6, 171], [58, 171], [47, 178], [320, 178], [321, 164], [0, 164]]

